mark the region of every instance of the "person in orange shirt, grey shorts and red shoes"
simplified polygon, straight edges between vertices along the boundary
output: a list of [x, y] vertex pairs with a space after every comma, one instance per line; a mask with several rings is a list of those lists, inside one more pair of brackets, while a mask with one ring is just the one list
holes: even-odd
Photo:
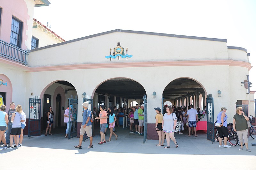
[[104, 132], [107, 127], [108, 115], [104, 109], [105, 109], [105, 105], [100, 105], [100, 115], [99, 117], [96, 117], [97, 120], [100, 120], [100, 142], [98, 144], [106, 143]]

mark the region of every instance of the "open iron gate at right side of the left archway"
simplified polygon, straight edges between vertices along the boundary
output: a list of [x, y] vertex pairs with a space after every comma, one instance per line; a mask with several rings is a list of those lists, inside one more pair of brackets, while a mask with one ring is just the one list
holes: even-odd
[[68, 139], [77, 136], [77, 99], [76, 96], [68, 98], [69, 112], [68, 112]]

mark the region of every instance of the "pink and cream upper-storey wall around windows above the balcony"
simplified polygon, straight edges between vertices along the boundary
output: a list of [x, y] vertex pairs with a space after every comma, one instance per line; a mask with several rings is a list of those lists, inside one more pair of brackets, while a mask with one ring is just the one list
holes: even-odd
[[0, 0], [0, 7], [2, 8], [0, 39], [10, 43], [12, 16], [14, 16], [23, 22], [21, 48], [27, 49], [25, 41], [28, 40], [26, 30], [28, 30], [29, 15], [26, 2], [24, 0]]

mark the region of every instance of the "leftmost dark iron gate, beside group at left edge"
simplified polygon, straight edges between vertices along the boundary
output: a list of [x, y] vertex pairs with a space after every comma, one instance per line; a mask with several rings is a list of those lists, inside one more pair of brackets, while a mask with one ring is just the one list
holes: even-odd
[[41, 99], [39, 96], [32, 96], [29, 99], [28, 113], [28, 137], [41, 134]]

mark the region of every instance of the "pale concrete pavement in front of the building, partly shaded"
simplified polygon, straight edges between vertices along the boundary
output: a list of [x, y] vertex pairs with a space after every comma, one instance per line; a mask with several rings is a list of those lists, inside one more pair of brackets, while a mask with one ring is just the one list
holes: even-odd
[[[87, 149], [89, 139], [82, 143], [82, 149], [74, 148], [79, 143], [78, 138], [68, 140], [64, 133], [54, 134], [54, 129], [54, 135], [30, 139], [24, 136], [23, 146], [20, 148], [0, 149], [0, 169], [9, 168], [10, 158], [13, 158], [12, 168], [19, 169], [256, 169], [256, 147], [251, 145], [256, 140], [251, 137], [248, 139], [251, 152], [245, 151], [245, 147], [239, 151], [238, 145], [219, 148], [218, 142], [207, 140], [206, 133], [201, 131], [198, 132], [199, 137], [175, 133], [179, 147], [175, 148], [171, 141], [171, 148], [165, 149], [163, 146], [155, 146], [158, 140], [147, 140], [143, 144], [142, 137], [138, 134], [129, 133], [128, 129], [121, 127], [116, 130], [117, 140], [113, 136], [110, 142], [99, 145], [100, 136], [96, 129], [92, 149]], [[106, 139], [109, 137], [109, 129], [107, 133]], [[16, 162], [18, 160], [20, 162]]]

